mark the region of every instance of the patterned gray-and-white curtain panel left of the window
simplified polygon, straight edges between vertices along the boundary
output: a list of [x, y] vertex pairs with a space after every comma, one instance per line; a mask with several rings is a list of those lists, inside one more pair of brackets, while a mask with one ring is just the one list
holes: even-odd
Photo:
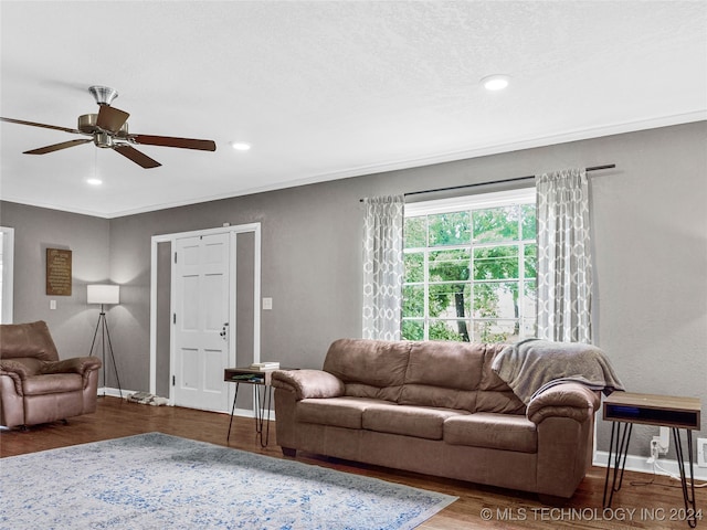
[[400, 340], [403, 195], [363, 199], [363, 338]]

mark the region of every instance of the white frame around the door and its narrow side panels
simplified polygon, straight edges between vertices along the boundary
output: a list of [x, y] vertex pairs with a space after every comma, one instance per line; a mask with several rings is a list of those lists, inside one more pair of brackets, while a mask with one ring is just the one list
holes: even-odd
[[[205, 230], [194, 230], [190, 232], [178, 232], [171, 234], [162, 234], [162, 235], [154, 235], [151, 237], [150, 243], [150, 373], [149, 373], [149, 384], [150, 384], [150, 393], [155, 394], [157, 392], [157, 277], [158, 277], [158, 244], [159, 243], [169, 243], [171, 245], [171, 253], [173, 255], [173, 251], [176, 248], [176, 242], [182, 237], [192, 237], [199, 235], [210, 235], [218, 233], [229, 233], [229, 239], [231, 242], [230, 245], [230, 262], [231, 266], [235, 267], [236, 263], [236, 235], [243, 233], [253, 233], [254, 242], [253, 242], [253, 362], [260, 362], [261, 360], [261, 223], [249, 223], [249, 224], [239, 224], [234, 226], [219, 226], [215, 229], [205, 229]], [[171, 261], [171, 285], [170, 285], [170, 315], [173, 314], [172, 306], [172, 290], [175, 288], [175, 275], [173, 268], [175, 263]], [[235, 271], [232, 271], [233, 277], [235, 277]], [[230, 286], [230, 311], [235, 311], [235, 282], [231, 283]], [[235, 322], [235, 320], [233, 321]], [[238, 332], [238, 330], [235, 331]], [[235, 333], [232, 335], [235, 338]], [[173, 328], [170, 326], [169, 333], [169, 359], [170, 359], [170, 372], [171, 372], [171, 363], [173, 361], [175, 356], [175, 340], [173, 340]], [[229, 359], [234, 359], [235, 357], [235, 340], [232, 340], [229, 344]], [[229, 402], [232, 401], [232, 389], [229, 385]], [[169, 404], [173, 405], [172, 398], [172, 388], [170, 385], [169, 390]]]

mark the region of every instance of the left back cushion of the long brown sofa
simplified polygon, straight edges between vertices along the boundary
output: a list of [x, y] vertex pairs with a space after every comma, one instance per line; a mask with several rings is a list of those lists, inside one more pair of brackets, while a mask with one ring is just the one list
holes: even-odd
[[339, 339], [331, 343], [324, 371], [346, 385], [346, 395], [398, 401], [411, 342]]

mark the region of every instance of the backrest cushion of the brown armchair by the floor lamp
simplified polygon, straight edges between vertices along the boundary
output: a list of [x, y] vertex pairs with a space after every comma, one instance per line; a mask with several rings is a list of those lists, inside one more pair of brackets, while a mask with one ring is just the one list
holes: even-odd
[[0, 325], [0, 359], [32, 357], [57, 361], [56, 346], [43, 320], [28, 324]]

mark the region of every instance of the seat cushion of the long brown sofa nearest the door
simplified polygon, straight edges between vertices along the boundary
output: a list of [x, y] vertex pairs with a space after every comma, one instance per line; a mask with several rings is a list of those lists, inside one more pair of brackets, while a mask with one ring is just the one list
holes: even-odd
[[296, 420], [346, 428], [361, 428], [363, 411], [373, 406], [393, 405], [382, 400], [368, 398], [308, 398], [297, 402]]

